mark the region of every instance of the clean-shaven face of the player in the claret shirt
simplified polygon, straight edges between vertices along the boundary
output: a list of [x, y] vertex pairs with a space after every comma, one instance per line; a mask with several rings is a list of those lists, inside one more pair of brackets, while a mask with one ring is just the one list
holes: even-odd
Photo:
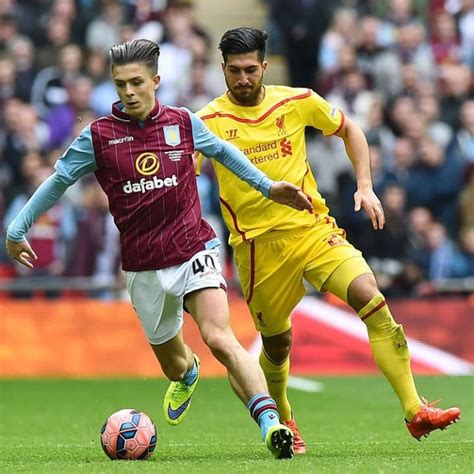
[[141, 63], [114, 66], [112, 78], [125, 112], [135, 120], [144, 120], [155, 106], [155, 92], [160, 76]]

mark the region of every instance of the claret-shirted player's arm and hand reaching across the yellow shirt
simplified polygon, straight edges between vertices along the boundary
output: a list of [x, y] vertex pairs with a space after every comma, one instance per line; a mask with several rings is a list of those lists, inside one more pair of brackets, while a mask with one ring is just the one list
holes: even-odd
[[298, 211], [313, 211], [310, 201], [298, 186], [287, 181], [272, 181], [255, 167], [237, 147], [216, 137], [197, 116], [191, 113], [189, 115], [193, 125], [196, 150], [204, 156], [213, 157], [219, 161], [265, 197]]

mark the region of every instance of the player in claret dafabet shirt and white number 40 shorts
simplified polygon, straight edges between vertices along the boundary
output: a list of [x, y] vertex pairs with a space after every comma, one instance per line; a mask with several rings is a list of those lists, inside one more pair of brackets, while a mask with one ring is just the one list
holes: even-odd
[[230, 328], [219, 241], [201, 218], [193, 154], [198, 150], [215, 157], [248, 190], [295, 209], [312, 207], [296, 185], [270, 180], [188, 110], [159, 104], [158, 56], [158, 45], [148, 40], [111, 48], [120, 101], [110, 115], [82, 130], [56, 163], [55, 173], [9, 225], [7, 252], [31, 268], [36, 255], [25, 238], [27, 230], [70, 185], [94, 172], [120, 231], [133, 307], [172, 381], [163, 404], [166, 420], [172, 425], [182, 421], [199, 378], [199, 359], [183, 342], [185, 306], [204, 342], [227, 368], [234, 391], [259, 424], [268, 449], [277, 458], [291, 458], [291, 429], [280, 423], [257, 361]]

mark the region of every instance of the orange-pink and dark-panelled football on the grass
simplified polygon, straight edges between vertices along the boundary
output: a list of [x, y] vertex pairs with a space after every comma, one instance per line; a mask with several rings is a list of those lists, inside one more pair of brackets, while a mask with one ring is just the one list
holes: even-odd
[[156, 448], [156, 428], [145, 413], [125, 408], [110, 415], [100, 443], [110, 459], [147, 459]]

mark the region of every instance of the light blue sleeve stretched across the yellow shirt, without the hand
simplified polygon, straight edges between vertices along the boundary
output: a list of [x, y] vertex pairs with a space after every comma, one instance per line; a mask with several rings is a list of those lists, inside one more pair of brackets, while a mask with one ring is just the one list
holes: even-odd
[[204, 156], [214, 158], [242, 181], [268, 197], [274, 181], [250, 163], [237, 147], [216, 137], [199, 117], [189, 111], [188, 113], [193, 129], [194, 148]]

